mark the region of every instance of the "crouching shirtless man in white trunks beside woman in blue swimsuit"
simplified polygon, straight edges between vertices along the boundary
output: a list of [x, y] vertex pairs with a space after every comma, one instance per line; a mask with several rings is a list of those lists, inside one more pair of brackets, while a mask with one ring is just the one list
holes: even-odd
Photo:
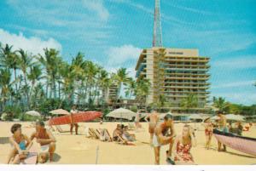
[[36, 123], [36, 132], [31, 135], [31, 140], [36, 139], [40, 145], [41, 152], [38, 157], [38, 161], [41, 163], [47, 162], [49, 156], [49, 162], [53, 162], [53, 156], [55, 153], [55, 137], [51, 132], [44, 128], [44, 122]]

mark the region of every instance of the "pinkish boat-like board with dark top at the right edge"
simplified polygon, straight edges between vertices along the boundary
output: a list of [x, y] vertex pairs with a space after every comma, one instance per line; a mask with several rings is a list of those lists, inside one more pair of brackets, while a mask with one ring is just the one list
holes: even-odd
[[256, 139], [224, 133], [218, 129], [213, 129], [213, 135], [222, 144], [227, 145], [236, 151], [241, 151], [256, 157]]

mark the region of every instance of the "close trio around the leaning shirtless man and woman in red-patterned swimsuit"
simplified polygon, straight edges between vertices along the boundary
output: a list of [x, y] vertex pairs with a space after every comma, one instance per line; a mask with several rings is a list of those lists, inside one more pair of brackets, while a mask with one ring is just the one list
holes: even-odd
[[162, 145], [169, 145], [169, 150], [166, 151], [166, 162], [195, 164], [190, 153], [190, 149], [196, 145], [194, 128], [186, 124], [182, 134], [176, 134], [172, 115], [166, 114], [164, 121], [160, 122], [156, 111], [149, 114], [146, 120], [148, 121], [150, 145], [154, 147], [155, 164], [160, 164], [160, 147]]

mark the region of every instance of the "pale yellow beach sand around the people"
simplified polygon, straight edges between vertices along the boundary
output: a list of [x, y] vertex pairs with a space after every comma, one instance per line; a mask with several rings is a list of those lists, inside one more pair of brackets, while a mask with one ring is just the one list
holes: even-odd
[[[10, 145], [3, 141], [3, 137], [11, 135], [9, 129], [14, 123], [0, 122], [0, 163], [6, 162]], [[35, 128], [26, 128], [30, 123], [21, 123], [23, 134], [30, 136]], [[113, 129], [117, 123], [79, 123], [79, 135], [70, 135], [69, 133], [57, 134], [55, 162], [52, 164], [96, 164], [96, 149], [98, 148], [98, 164], [154, 164], [154, 149], [148, 145], [148, 123], [142, 123], [143, 130], [131, 131], [136, 134], [136, 145], [119, 145], [114, 142], [102, 142], [85, 138], [84, 126], [90, 128], [108, 128], [112, 135]], [[127, 124], [127, 123], [124, 123]], [[227, 152], [217, 151], [217, 141], [212, 137], [212, 147], [210, 150], [205, 149], [204, 128], [200, 123], [190, 123], [197, 128], [196, 140], [197, 146], [192, 148], [191, 153], [195, 163], [203, 165], [236, 165], [236, 164], [255, 164], [256, 157], [249, 156], [245, 153], [227, 148]], [[69, 126], [61, 126], [64, 130], [69, 130]], [[180, 134], [183, 123], [175, 123], [176, 133]], [[256, 127], [244, 132], [244, 136], [256, 138]], [[0, 138], [0, 139], [1, 139]], [[166, 164], [166, 150], [168, 146], [163, 146], [160, 151], [160, 164]], [[255, 147], [256, 148], [256, 147]], [[47, 162], [46, 164], [49, 164]]]

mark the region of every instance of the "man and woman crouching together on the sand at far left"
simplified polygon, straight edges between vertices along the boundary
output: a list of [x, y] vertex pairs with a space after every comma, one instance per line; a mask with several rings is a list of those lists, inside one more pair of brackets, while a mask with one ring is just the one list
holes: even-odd
[[21, 124], [15, 123], [10, 129], [12, 136], [9, 138], [12, 146], [7, 160], [8, 164], [19, 164], [28, 157], [31, 152], [33, 140], [39, 145], [40, 150], [37, 152], [37, 161], [40, 163], [54, 161], [55, 137], [48, 129], [44, 127], [44, 122], [36, 123], [36, 130], [30, 137], [22, 133]]

